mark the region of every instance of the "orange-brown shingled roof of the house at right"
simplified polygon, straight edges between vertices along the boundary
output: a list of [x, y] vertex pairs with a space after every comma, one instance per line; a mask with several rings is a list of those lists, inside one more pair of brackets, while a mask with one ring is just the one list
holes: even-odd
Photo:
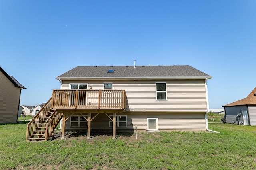
[[230, 104], [226, 104], [223, 107], [238, 106], [238, 105], [256, 105], [256, 87], [252, 90], [252, 92], [250, 92], [250, 94], [246, 98], [238, 100], [238, 101], [230, 103]]

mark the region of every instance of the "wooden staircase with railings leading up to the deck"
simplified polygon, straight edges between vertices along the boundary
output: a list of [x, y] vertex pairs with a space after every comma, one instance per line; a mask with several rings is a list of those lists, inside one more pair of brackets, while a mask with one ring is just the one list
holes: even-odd
[[28, 123], [26, 141], [47, 141], [54, 135], [54, 130], [62, 119], [63, 113], [52, 109], [52, 98], [42, 107]]

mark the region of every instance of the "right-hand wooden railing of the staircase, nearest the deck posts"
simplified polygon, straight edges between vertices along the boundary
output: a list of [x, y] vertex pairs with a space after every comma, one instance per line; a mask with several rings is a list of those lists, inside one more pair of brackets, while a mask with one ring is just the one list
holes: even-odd
[[58, 113], [56, 110], [54, 110], [54, 113], [46, 121], [45, 141], [47, 141], [51, 135], [54, 135], [54, 130], [62, 117], [63, 113]]

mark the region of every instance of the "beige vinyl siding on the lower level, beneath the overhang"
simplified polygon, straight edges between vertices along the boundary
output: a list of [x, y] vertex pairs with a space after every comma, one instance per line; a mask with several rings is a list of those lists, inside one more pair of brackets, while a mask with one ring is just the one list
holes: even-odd
[[[205, 113], [193, 112], [193, 113], [154, 113], [154, 112], [124, 112], [117, 114], [117, 116], [127, 116], [127, 127], [116, 127], [117, 130], [129, 130], [136, 129], [146, 130], [147, 129], [147, 118], [158, 118], [158, 129], [159, 130], [206, 130]], [[80, 114], [76, 114], [80, 115]], [[88, 113], [84, 113], [88, 115]], [[96, 114], [92, 113], [92, 117]], [[112, 116], [112, 114], [108, 114]], [[67, 115], [69, 116], [69, 115]], [[112, 127], [108, 126], [108, 117], [104, 113], [100, 113], [91, 123], [92, 129], [112, 130]], [[66, 129], [80, 129], [86, 130], [86, 128], [70, 128], [70, 119], [66, 121]]]

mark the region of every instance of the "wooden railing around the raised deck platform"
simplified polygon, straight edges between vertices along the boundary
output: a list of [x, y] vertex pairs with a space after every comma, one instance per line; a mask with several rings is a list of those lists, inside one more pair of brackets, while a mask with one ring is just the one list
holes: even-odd
[[125, 90], [53, 90], [53, 109], [125, 109]]

